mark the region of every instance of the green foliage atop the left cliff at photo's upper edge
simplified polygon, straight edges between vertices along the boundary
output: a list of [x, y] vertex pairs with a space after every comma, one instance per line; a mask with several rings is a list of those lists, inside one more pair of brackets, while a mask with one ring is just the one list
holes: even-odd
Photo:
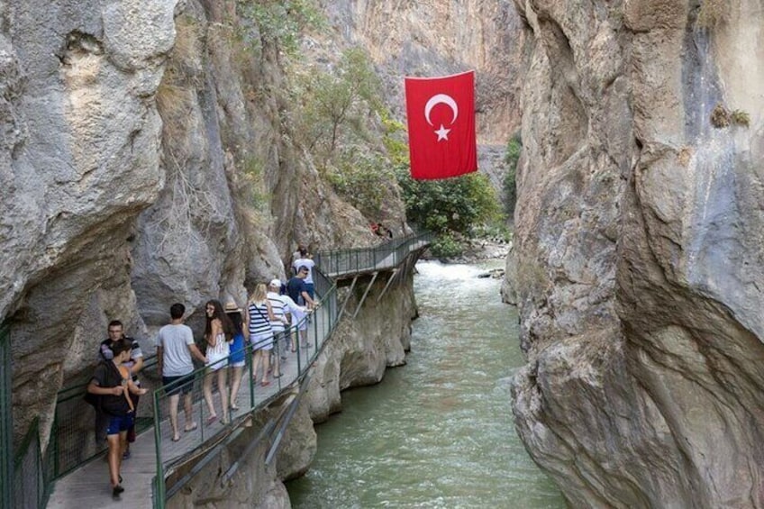
[[314, 0], [239, 0], [241, 19], [254, 29], [246, 38], [258, 45], [276, 44], [287, 55], [299, 52], [300, 34], [326, 24]]

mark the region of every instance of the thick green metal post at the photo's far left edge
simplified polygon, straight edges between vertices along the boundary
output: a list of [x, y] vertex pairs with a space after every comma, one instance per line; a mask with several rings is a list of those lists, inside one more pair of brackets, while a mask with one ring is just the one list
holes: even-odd
[[11, 398], [11, 341], [0, 323], [0, 506], [14, 507], [14, 416]]

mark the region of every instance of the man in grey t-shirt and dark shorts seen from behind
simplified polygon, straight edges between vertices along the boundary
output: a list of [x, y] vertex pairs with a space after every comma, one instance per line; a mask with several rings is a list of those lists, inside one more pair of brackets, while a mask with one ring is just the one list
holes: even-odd
[[172, 304], [169, 308], [170, 323], [159, 329], [157, 335], [157, 368], [162, 377], [162, 385], [173, 384], [167, 392], [169, 395], [169, 423], [172, 427], [172, 441], [180, 440], [177, 429], [177, 404], [183, 395], [183, 409], [186, 414], [185, 432], [196, 430], [192, 418], [191, 389], [194, 378], [189, 377], [194, 372], [195, 359], [207, 363], [207, 358], [194, 343], [194, 333], [191, 327], [183, 323], [186, 306], [180, 303]]

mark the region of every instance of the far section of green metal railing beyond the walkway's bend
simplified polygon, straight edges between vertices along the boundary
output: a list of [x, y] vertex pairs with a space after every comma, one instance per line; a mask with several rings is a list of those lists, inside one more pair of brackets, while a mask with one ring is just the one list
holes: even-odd
[[347, 277], [397, 267], [408, 254], [419, 246], [432, 242], [430, 232], [399, 237], [373, 248], [353, 250], [326, 250], [316, 254], [315, 264], [328, 277]]

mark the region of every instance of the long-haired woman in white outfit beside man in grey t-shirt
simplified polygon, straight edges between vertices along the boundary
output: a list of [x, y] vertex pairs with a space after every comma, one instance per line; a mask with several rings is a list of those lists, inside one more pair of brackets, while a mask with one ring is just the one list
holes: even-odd
[[231, 353], [230, 347], [233, 341], [233, 324], [228, 315], [223, 312], [223, 305], [220, 304], [220, 301], [208, 301], [205, 304], [205, 312], [207, 315], [205, 326], [207, 372], [202, 387], [207, 409], [210, 413], [207, 424], [212, 424], [217, 420], [213, 403], [213, 374], [217, 375], [217, 390], [220, 394], [220, 405], [223, 410], [221, 423], [228, 424], [228, 356]]

